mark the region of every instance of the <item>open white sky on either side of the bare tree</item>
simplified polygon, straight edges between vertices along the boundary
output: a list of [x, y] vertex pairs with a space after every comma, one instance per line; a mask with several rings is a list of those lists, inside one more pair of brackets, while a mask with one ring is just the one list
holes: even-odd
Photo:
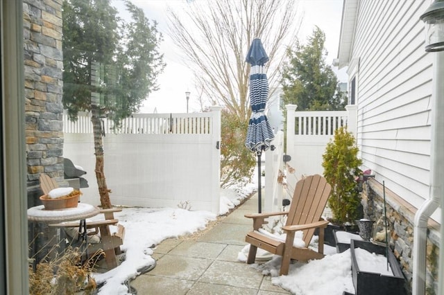
[[[186, 91], [191, 93], [189, 112], [200, 111], [191, 71], [189, 71], [185, 62], [178, 55], [178, 48], [176, 48], [167, 34], [167, 6], [174, 9], [180, 8], [180, 6], [187, 5], [186, 1], [132, 0], [132, 2], [144, 10], [148, 19], [157, 21], [157, 28], [164, 37], [164, 42], [160, 44], [160, 52], [164, 53], [164, 62], [167, 63], [164, 73], [158, 78], [160, 90], [150, 94], [139, 112], [151, 114], [156, 110], [157, 113], [185, 113], [187, 111]], [[123, 10], [121, 1], [114, 0], [113, 4], [120, 8], [119, 11]], [[333, 59], [337, 57], [342, 6], [343, 0], [300, 1], [300, 8], [304, 12], [304, 19], [298, 37], [301, 42], [304, 42], [311, 35], [314, 26], [321, 28], [326, 35], [327, 64], [332, 64]], [[336, 73], [341, 82], [347, 81], [345, 69], [336, 71]]]

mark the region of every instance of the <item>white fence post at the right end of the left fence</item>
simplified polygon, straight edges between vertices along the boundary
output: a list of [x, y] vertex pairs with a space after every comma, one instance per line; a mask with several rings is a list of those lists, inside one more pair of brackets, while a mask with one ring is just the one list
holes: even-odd
[[219, 215], [221, 204], [221, 109], [222, 107], [214, 105], [212, 111], [212, 184], [211, 184], [211, 208], [212, 212]]

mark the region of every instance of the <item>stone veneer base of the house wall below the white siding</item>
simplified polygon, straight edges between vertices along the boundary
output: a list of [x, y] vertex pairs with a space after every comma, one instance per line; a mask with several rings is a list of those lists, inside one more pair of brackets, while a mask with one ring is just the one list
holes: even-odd
[[[411, 294], [413, 271], [413, 220], [416, 209], [386, 188], [386, 214], [389, 234], [389, 247], [398, 258], [402, 272], [407, 279], [407, 289]], [[362, 192], [364, 217], [375, 221], [374, 231], [383, 235], [385, 241], [384, 190], [382, 184], [370, 179]], [[427, 234], [427, 294], [438, 294], [438, 253], [439, 225], [429, 221]], [[375, 235], [374, 235], [375, 238]]]

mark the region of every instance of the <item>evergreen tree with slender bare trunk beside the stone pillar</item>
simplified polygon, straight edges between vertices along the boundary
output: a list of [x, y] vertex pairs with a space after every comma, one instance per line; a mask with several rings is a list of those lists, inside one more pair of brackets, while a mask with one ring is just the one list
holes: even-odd
[[164, 68], [158, 52], [162, 35], [142, 9], [125, 1], [130, 22], [117, 17], [110, 0], [66, 0], [63, 17], [63, 97], [71, 120], [90, 111], [94, 133], [97, 185], [101, 206], [110, 208], [110, 190], [103, 172], [101, 116], [118, 126], [139, 109]]

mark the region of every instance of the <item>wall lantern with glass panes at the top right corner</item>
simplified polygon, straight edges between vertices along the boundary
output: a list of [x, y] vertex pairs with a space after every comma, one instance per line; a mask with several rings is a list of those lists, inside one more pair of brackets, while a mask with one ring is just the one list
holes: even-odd
[[435, 0], [420, 19], [425, 23], [425, 51], [444, 51], [444, 0]]

